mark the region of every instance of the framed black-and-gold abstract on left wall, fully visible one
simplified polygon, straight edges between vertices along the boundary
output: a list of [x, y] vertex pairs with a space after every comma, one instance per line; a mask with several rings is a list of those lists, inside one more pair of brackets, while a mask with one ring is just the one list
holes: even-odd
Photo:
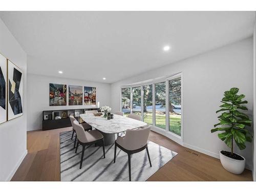
[[23, 115], [23, 71], [8, 59], [8, 121]]

